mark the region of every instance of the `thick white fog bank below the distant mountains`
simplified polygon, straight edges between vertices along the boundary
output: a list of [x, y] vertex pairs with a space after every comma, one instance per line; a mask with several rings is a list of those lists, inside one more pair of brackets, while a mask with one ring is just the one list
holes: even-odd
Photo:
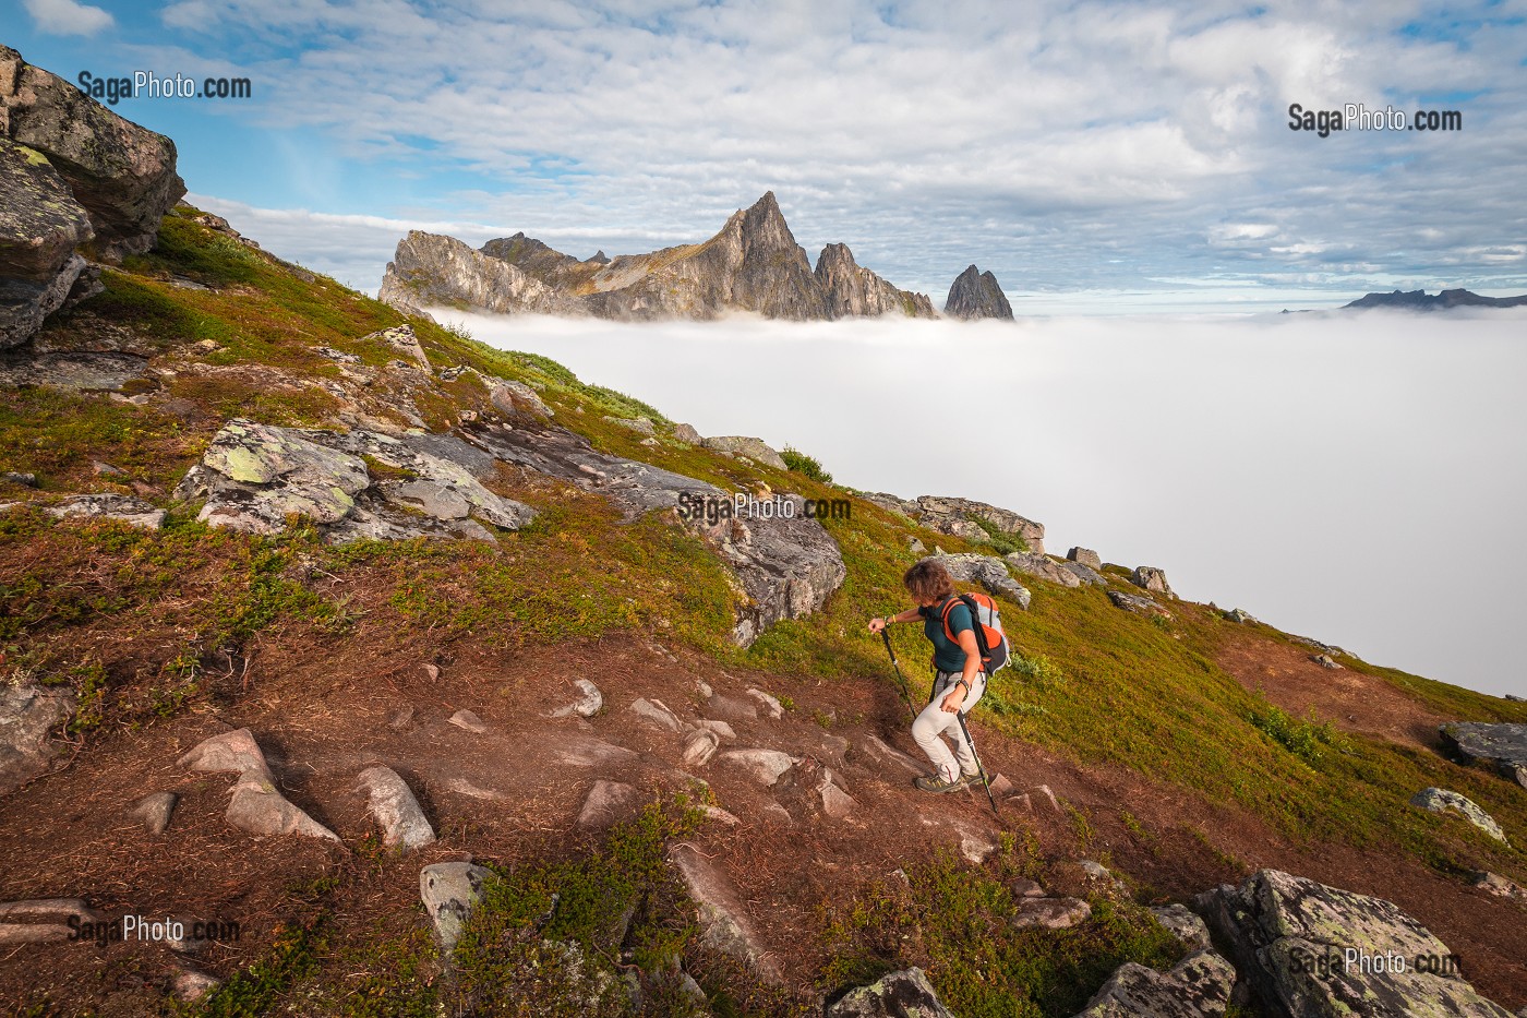
[[[840, 483], [1006, 506], [1376, 663], [1527, 694], [1527, 313], [629, 326], [437, 312]], [[1019, 628], [1022, 642], [1022, 624]]]

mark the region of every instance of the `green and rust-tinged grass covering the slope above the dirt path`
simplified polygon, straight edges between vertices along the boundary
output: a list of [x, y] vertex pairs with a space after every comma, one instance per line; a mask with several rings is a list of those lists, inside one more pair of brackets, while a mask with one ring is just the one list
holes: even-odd
[[[218, 289], [176, 287], [169, 274]], [[403, 321], [386, 306], [327, 278], [307, 280], [182, 216], [166, 220], [153, 254], [108, 271], [105, 283], [107, 292], [82, 315], [118, 321], [148, 336], [160, 352], [159, 364], [195, 356], [231, 370], [217, 376], [182, 371], [165, 379], [168, 396], [205, 408], [206, 417], [93, 394], [35, 388], [0, 393], [0, 469], [37, 472], [43, 497], [55, 491], [128, 491], [131, 480], [168, 491], [228, 416], [327, 425], [336, 402], [321, 388], [272, 387], [235, 368], [266, 365], [299, 379], [337, 378], [337, 367], [312, 347], [328, 345], [380, 365], [392, 353], [360, 338]], [[81, 321], [66, 316], [49, 326], [49, 335], [66, 338]], [[806, 497], [847, 495], [802, 474], [745, 466], [672, 442], [672, 423], [655, 410], [582, 384], [544, 358], [492, 350], [426, 323], [414, 326], [437, 367], [472, 364], [538, 385], [557, 419], [600, 449], [727, 489], [768, 485]], [[197, 342], [214, 349], [188, 355]], [[417, 400], [432, 428], [450, 426], [463, 410], [487, 410], [486, 390], [470, 374], [437, 385], [437, 394]], [[658, 422], [658, 446], [641, 446], [638, 434], [605, 420], [635, 414]], [[93, 477], [92, 460], [108, 462], [125, 475]], [[108, 524], [60, 526], [31, 511], [0, 517], [5, 665], [18, 676], [70, 683], [81, 691], [72, 734], [89, 737], [111, 726], [153, 725], [199, 702], [237, 695], [212, 676], [220, 662], [232, 662], [244, 642], [261, 634], [308, 627], [342, 645], [353, 607], [304, 584], [304, 575], [316, 569], [382, 590], [385, 610], [402, 628], [431, 627], [460, 639], [512, 642], [635, 630], [777, 673], [884, 679], [883, 650], [863, 624], [904, 602], [898, 578], [915, 559], [909, 540], [919, 537], [928, 547], [938, 543], [950, 550], [968, 547], [854, 500], [851, 520], [826, 521], [849, 567], [843, 588], [818, 616], [780, 624], [742, 653], [724, 640], [736, 595], [698, 541], [660, 518], [623, 526], [599, 498], [554, 485], [518, 489], [513, 483], [504, 478], [498, 486], [534, 503], [542, 515], [498, 546], [418, 541], [331, 549], [302, 527], [276, 538], [209, 530], [194, 521], [188, 507], [173, 509], [159, 533]], [[1519, 795], [1483, 770], [1388, 741], [1335, 735], [1319, 718], [1281, 715], [1214, 663], [1232, 625], [1215, 611], [1182, 604], [1171, 622], [1147, 621], [1113, 608], [1096, 588], [1032, 585], [1031, 611], [1012, 605], [1005, 611], [1025, 657], [980, 708], [988, 731], [1083, 763], [1122, 764], [1211, 801], [1238, 804], [1296, 838], [1393, 847], [1443, 871], [1496, 868], [1521, 874], [1527, 868], [1521, 851], [1405, 806], [1416, 789], [1440, 784], [1474, 798], [1507, 828], [1524, 830], [1527, 809]], [[160, 650], [113, 657], [92, 639], [122, 628], [154, 633], [153, 644]], [[1258, 628], [1266, 639], [1286, 639]], [[906, 660], [921, 659], [916, 633], [902, 628], [896, 637]], [[86, 653], [86, 647], [92, 650]], [[1524, 705], [1362, 662], [1345, 663], [1390, 682], [1432, 711], [1471, 720], [1527, 720]], [[948, 903], [948, 923], [988, 916], [994, 897], [954, 908], [941, 890], [939, 874], [954, 865], [945, 861], [942, 868], [928, 864], [927, 870], [915, 870], [913, 894]], [[996, 883], [979, 891], [988, 897], [1000, 893]], [[835, 935], [857, 931], [873, 939], [889, 935], [875, 926], [883, 922], [866, 919], [855, 926], [840, 919], [832, 929]], [[1170, 960], [1138, 917], [1119, 922], [1124, 925], [1109, 926], [1113, 932], [1095, 931], [1096, 957]], [[957, 945], [948, 923], [947, 942]], [[1115, 946], [1099, 948], [1104, 942]], [[1017, 948], [1003, 942], [1000, 949]], [[854, 951], [846, 948], [843, 957], [849, 961], [843, 971], [826, 974], [828, 983], [855, 971]], [[1054, 971], [1044, 978], [1035, 975], [1025, 990], [1031, 1004], [1023, 1013], [1061, 1013], [1061, 1006], [1072, 1001], [1057, 987], [1070, 986], [1064, 980], [1075, 977]], [[980, 1001], [1015, 992], [956, 984], [947, 989], [971, 1013], [979, 1013]], [[1038, 1007], [1034, 1001], [1044, 1000], [1052, 1003], [1032, 1010]]]

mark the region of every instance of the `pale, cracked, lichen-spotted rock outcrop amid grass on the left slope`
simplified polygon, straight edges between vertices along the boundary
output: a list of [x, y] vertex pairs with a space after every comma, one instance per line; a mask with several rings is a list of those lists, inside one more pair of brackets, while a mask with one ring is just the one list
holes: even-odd
[[[334, 543], [487, 540], [492, 533], [483, 523], [513, 530], [534, 511], [484, 488], [472, 474], [479, 457], [450, 436], [347, 434], [235, 419], [217, 433], [176, 495], [205, 498], [199, 518], [211, 526], [253, 533], [279, 532], [298, 514]], [[388, 475], [373, 477], [368, 460]]]

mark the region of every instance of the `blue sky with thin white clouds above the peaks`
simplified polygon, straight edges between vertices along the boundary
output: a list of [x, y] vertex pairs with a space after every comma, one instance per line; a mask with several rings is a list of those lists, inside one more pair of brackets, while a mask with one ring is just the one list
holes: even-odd
[[[0, 0], [125, 99], [192, 199], [374, 290], [409, 228], [586, 257], [701, 240], [774, 190], [815, 258], [1022, 313], [1527, 292], [1527, 0], [409, 3]], [[1292, 131], [1287, 107], [1457, 109], [1463, 130]]]

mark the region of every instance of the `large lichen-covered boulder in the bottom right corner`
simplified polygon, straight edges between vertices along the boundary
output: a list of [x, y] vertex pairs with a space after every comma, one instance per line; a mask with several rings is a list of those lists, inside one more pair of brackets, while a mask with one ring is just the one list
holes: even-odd
[[1448, 945], [1383, 899], [1261, 870], [1194, 908], [1275, 1018], [1510, 1018], [1463, 978]]

